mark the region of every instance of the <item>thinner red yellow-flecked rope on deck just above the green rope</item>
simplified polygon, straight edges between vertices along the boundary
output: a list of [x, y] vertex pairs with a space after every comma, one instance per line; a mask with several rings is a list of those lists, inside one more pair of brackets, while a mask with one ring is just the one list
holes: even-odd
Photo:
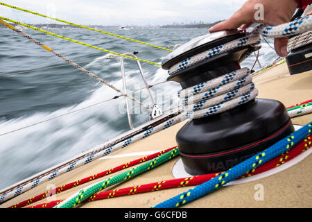
[[132, 166], [135, 166], [137, 164], [140, 164], [142, 162], [146, 162], [148, 160], [152, 160], [154, 159], [155, 157], [158, 157], [159, 155], [163, 155], [164, 153], [167, 153], [168, 151], [171, 151], [173, 148], [176, 148], [177, 146], [175, 147], [172, 147], [172, 148], [168, 148], [164, 151], [160, 151], [160, 152], [157, 152], [157, 153], [153, 153], [151, 155], [147, 155], [147, 156], [144, 156], [144, 157], [141, 157], [137, 160], [133, 160], [132, 162], [127, 162], [125, 164], [121, 164], [120, 166], [118, 167], [114, 167], [112, 169], [108, 169], [106, 171], [103, 171], [101, 173], [96, 173], [92, 176], [88, 176], [87, 178], [83, 178], [81, 180], [76, 180], [75, 182], [71, 182], [71, 183], [68, 183], [67, 185], [62, 185], [60, 187], [56, 187], [55, 189], [51, 189], [49, 191], [46, 191], [45, 193], [43, 194], [40, 194], [40, 195], [37, 195], [37, 196], [34, 196], [33, 198], [30, 198], [28, 200], [24, 200], [20, 203], [17, 203], [15, 205], [12, 205], [8, 208], [20, 208], [20, 207], [24, 207], [26, 205], [29, 205], [31, 203], [35, 203], [36, 201], [38, 200], [42, 200], [46, 197], [49, 197], [53, 194], [60, 194], [62, 191], [65, 191], [67, 189], [71, 189], [73, 187], [77, 187], [78, 185], [82, 185], [86, 182], [90, 182], [92, 180], [96, 180], [98, 178], [102, 178], [103, 176], [107, 176], [107, 175], [110, 175], [111, 173], [115, 173], [117, 171], [121, 171], [123, 169], [126, 169], [128, 167], [132, 167]]

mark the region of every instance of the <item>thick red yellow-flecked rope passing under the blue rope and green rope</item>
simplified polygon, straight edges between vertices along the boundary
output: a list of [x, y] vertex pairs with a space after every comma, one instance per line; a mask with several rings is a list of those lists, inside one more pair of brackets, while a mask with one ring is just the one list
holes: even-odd
[[[302, 142], [297, 144], [294, 148], [292, 148], [290, 151], [283, 153], [279, 155], [278, 157], [275, 157], [274, 159], [270, 160], [269, 162], [266, 162], [266, 164], [261, 165], [260, 167], [257, 167], [256, 169], [246, 172], [241, 178], [245, 178], [248, 176], [254, 176], [258, 173], [262, 173], [264, 171], [268, 171], [270, 169], [274, 169], [275, 167], [279, 167], [281, 164], [284, 164], [290, 160], [292, 160], [294, 157], [299, 155], [300, 153], [306, 151], [310, 146], [312, 142], [312, 137], [306, 137]], [[222, 172], [221, 172], [222, 173]], [[122, 189], [114, 189], [110, 191], [102, 191], [98, 194], [94, 194], [94, 196], [91, 196], [85, 200], [87, 201], [93, 201], [93, 200], [101, 200], [105, 198], [112, 198], [116, 196], [126, 196], [130, 194], [140, 194], [144, 192], [149, 191], [157, 191], [162, 189], [169, 189], [174, 187], [185, 187], [185, 186], [195, 186], [200, 185], [203, 182], [207, 182], [207, 180], [210, 180], [211, 178], [214, 178], [215, 176], [218, 176], [220, 173], [211, 173], [206, 174], [202, 176], [193, 176], [189, 178], [180, 178], [180, 179], [173, 179], [173, 180], [163, 180], [159, 182], [153, 182], [146, 185], [137, 185], [134, 187], [125, 187]], [[60, 203], [62, 200], [55, 200], [50, 203], [43, 203], [40, 205], [35, 205], [31, 208], [49, 208], [54, 207], [58, 203]]]

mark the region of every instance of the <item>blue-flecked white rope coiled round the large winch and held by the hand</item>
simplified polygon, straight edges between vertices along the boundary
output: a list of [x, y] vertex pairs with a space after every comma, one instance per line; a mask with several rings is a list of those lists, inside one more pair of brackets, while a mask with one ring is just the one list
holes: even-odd
[[[285, 37], [310, 31], [311, 29], [312, 17], [309, 16], [279, 26], [265, 26], [261, 24], [256, 26], [251, 33], [246, 34], [245, 37], [240, 37], [178, 62], [168, 69], [168, 74], [175, 74], [177, 71], [187, 69], [199, 62], [209, 60], [221, 53], [229, 52], [242, 46], [259, 44], [261, 35], [273, 38]], [[193, 119], [231, 110], [256, 98], [257, 94], [258, 91], [254, 88], [249, 69], [232, 71], [219, 78], [214, 78], [178, 92], [186, 116]]]

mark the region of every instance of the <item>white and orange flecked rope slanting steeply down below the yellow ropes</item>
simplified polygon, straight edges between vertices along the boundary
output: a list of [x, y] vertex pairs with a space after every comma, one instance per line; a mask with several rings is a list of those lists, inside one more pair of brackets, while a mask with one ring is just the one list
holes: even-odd
[[[2, 18], [0, 16], [0, 18]], [[72, 65], [73, 67], [76, 67], [77, 69], [79, 69], [80, 71], [85, 72], [85, 74], [91, 76], [92, 78], [95, 78], [96, 80], [98, 80], [99, 82], [107, 85], [108, 87], [110, 87], [111, 89], [114, 89], [116, 92], [119, 92], [121, 95], [128, 97], [128, 99], [134, 101], [135, 103], [138, 103], [139, 105], [141, 105], [142, 107], [146, 108], [146, 110], [152, 110], [151, 108], [149, 108], [148, 106], [144, 105], [143, 103], [141, 103], [140, 101], [138, 101], [135, 98], [132, 98], [132, 96], [129, 96], [125, 93], [123, 93], [120, 89], [117, 89], [116, 87], [114, 87], [114, 85], [111, 85], [110, 83], [107, 83], [105, 80], [103, 80], [102, 78], [92, 74], [90, 71], [88, 71], [87, 69], [81, 67], [80, 65], [76, 64], [75, 62], [72, 62], [71, 60], [69, 60], [68, 58], [65, 58], [64, 56], [60, 55], [60, 53], [54, 51], [53, 49], [49, 48], [48, 46], [42, 44], [41, 42], [35, 40], [33, 37], [27, 35], [26, 33], [23, 33], [22, 31], [20, 31], [19, 29], [15, 28], [14, 26], [4, 22], [2, 19], [0, 19], [0, 23], [7, 26], [8, 28], [12, 29], [12, 31], [15, 31], [16, 33], [19, 33], [19, 35], [26, 37], [28, 40], [31, 40], [32, 42], [34, 42], [35, 44], [37, 44], [38, 46], [41, 46], [43, 49], [46, 49], [46, 51], [49, 51], [51, 53], [53, 53], [53, 55], [58, 56], [58, 58], [61, 58], [62, 60], [64, 60], [65, 62], [68, 62], [70, 65]]]

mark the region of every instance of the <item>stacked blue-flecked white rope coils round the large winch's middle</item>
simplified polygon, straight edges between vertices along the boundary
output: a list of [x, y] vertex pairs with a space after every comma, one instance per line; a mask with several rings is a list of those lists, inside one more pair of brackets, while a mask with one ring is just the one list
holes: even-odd
[[[247, 103], [257, 94], [258, 90], [254, 88], [249, 69], [239, 69], [211, 82], [207, 81], [182, 90], [180, 99], [184, 105], [186, 117], [198, 119]], [[182, 98], [181, 95], [188, 97]]]

